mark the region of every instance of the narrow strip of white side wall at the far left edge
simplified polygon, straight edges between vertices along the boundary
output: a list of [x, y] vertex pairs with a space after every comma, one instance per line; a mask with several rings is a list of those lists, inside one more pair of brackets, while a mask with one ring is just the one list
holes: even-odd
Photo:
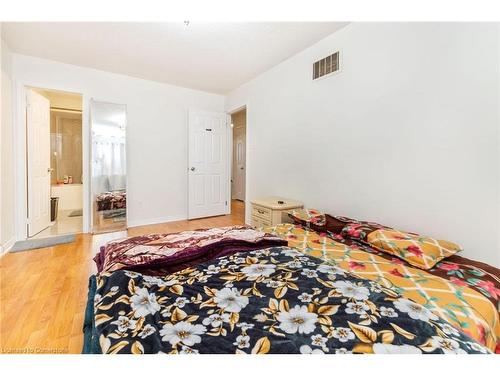
[[12, 54], [1, 40], [0, 110], [0, 247], [7, 251], [14, 244], [14, 148], [12, 126]]

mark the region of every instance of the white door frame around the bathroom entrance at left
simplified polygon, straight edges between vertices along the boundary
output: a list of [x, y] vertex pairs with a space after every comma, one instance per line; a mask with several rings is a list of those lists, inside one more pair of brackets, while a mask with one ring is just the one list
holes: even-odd
[[27, 123], [26, 93], [28, 88], [63, 91], [82, 97], [82, 174], [83, 174], [83, 228], [90, 232], [90, 123], [88, 96], [79, 87], [64, 86], [42, 81], [14, 79], [14, 231], [16, 241], [28, 238], [28, 181], [27, 181]]

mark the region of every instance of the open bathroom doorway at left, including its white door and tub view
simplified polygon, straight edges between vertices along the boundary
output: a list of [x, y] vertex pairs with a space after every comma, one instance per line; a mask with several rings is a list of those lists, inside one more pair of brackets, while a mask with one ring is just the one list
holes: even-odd
[[28, 238], [83, 231], [82, 96], [27, 88]]

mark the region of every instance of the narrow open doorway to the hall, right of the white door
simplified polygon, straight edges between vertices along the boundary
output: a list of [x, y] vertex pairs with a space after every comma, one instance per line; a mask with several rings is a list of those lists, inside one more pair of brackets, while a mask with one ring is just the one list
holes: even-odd
[[245, 216], [246, 200], [246, 108], [231, 114], [233, 128], [233, 155], [231, 170], [231, 212]]

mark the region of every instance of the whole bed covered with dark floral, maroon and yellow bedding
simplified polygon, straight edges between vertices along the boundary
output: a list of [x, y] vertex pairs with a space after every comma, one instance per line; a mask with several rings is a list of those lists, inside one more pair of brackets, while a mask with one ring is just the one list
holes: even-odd
[[297, 224], [114, 241], [95, 258], [83, 352], [494, 352], [497, 275], [464, 259], [427, 272]]

